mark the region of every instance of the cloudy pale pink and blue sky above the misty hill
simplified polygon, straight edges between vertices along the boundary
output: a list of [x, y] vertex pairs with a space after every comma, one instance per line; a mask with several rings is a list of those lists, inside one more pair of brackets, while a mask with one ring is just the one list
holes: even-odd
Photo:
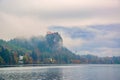
[[76, 54], [120, 56], [120, 0], [0, 0], [0, 39], [47, 31]]

